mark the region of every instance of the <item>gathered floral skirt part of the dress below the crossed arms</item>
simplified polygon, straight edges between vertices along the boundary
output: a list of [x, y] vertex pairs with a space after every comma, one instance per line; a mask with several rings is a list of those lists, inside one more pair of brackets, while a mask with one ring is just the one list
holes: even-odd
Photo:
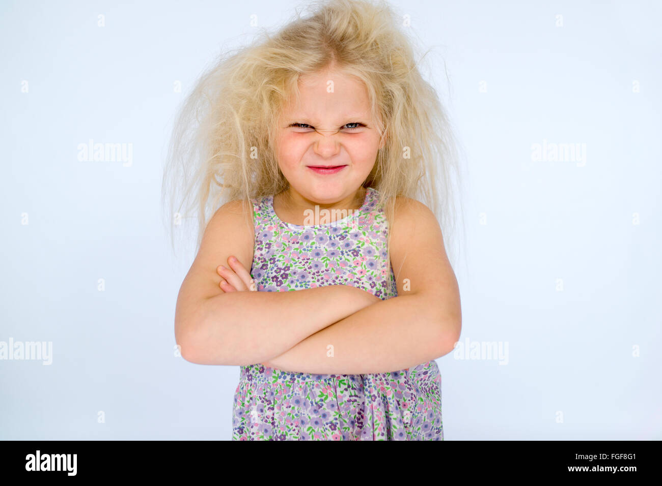
[[242, 366], [232, 440], [444, 440], [436, 361], [359, 375]]

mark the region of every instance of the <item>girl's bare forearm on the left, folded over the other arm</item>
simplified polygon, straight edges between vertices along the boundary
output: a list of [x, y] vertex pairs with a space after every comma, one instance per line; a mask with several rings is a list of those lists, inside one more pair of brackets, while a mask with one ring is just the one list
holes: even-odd
[[198, 364], [263, 362], [376, 302], [379, 298], [348, 285], [220, 294], [200, 304], [182, 356]]

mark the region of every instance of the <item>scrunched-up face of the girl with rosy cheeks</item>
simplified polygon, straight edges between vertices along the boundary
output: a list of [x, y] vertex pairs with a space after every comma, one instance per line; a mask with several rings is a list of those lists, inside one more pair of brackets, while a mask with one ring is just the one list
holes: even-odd
[[354, 77], [330, 70], [299, 78], [299, 93], [298, 106], [285, 106], [278, 132], [278, 165], [290, 190], [320, 204], [351, 200], [380, 147], [367, 89]]

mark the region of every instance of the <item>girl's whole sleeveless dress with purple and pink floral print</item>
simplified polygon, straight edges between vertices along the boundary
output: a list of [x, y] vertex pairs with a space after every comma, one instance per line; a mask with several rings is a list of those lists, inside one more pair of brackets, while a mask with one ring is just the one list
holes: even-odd
[[[255, 250], [250, 274], [259, 292], [346, 284], [386, 300], [387, 220], [379, 192], [347, 218], [317, 225], [280, 220], [273, 196], [253, 199]], [[442, 378], [432, 360], [379, 374], [310, 374], [240, 367], [232, 440], [444, 440]]]

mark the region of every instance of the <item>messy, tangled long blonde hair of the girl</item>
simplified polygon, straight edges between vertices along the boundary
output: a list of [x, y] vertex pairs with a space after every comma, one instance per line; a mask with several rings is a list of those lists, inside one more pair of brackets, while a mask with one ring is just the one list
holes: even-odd
[[[222, 204], [243, 200], [250, 208], [250, 198], [287, 189], [275, 156], [277, 120], [297, 95], [299, 77], [333, 66], [365, 83], [373, 119], [383, 121], [378, 130], [385, 144], [363, 186], [379, 191], [389, 227], [395, 196], [419, 200], [438, 219], [452, 251], [457, 145], [435, 89], [418, 69], [423, 56], [386, 1], [326, 0], [308, 7], [310, 15], [297, 12], [274, 34], [261, 32], [250, 45], [222, 54], [185, 99], [164, 169], [169, 229], [175, 217], [197, 216], [199, 249]], [[389, 268], [390, 242], [389, 231]]]

